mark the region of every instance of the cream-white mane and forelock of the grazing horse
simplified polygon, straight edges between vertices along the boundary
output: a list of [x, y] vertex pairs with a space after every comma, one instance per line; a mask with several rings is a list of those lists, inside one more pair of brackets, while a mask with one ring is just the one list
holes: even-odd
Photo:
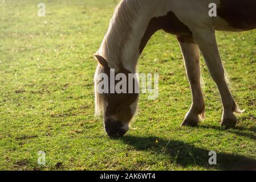
[[[123, 66], [120, 64], [122, 60], [121, 52], [124, 48], [125, 42], [129, 39], [129, 34], [132, 32], [132, 22], [139, 15], [143, 4], [148, 0], [122, 0], [116, 7], [113, 17], [109, 23], [107, 34], [104, 36], [103, 42], [97, 55], [103, 56], [109, 64], [109, 67], [119, 71]], [[104, 94], [97, 92], [97, 75], [103, 73], [103, 67], [97, 65], [94, 76], [95, 82], [95, 114], [104, 114]]]

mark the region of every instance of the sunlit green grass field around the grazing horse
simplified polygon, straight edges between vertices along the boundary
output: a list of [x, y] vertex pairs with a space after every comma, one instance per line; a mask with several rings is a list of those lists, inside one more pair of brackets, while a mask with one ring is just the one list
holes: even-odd
[[[218, 32], [235, 100], [245, 113], [235, 129], [219, 126], [221, 99], [202, 60], [206, 119], [180, 127], [190, 89], [176, 38], [157, 32], [139, 71], [159, 73], [156, 101], [140, 96], [132, 129], [109, 139], [94, 117], [93, 75], [119, 1], [0, 2], [1, 170], [256, 170], [256, 31]], [[156, 140], [159, 143], [156, 143]], [[46, 152], [46, 165], [37, 163]], [[217, 165], [208, 164], [209, 151]]]

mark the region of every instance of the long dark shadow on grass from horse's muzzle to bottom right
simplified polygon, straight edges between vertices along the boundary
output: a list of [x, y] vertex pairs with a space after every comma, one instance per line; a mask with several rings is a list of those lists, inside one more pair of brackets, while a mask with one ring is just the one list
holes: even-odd
[[[159, 140], [159, 144], [155, 143], [156, 139]], [[211, 166], [208, 163], [210, 158], [208, 150], [178, 140], [168, 141], [157, 137], [133, 137], [129, 135], [121, 140], [136, 150], [152, 152], [156, 157], [157, 155], [168, 155], [171, 163], [183, 167], [200, 166], [220, 170], [256, 170], [255, 159], [223, 152], [217, 152], [217, 165]], [[156, 150], [157, 148], [158, 150]]]

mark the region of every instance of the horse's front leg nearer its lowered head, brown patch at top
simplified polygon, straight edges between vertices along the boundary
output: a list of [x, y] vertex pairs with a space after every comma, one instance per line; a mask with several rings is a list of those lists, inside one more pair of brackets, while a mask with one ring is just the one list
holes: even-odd
[[196, 126], [200, 119], [205, 117], [205, 102], [201, 90], [200, 52], [192, 37], [178, 36], [177, 38], [192, 90], [192, 105], [181, 126]]

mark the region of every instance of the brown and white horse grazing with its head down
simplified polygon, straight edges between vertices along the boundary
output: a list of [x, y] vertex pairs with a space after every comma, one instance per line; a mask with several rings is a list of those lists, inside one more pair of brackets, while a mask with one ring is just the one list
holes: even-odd
[[[210, 16], [210, 3], [217, 16]], [[214, 7], [214, 6], [213, 6]], [[122, 0], [107, 34], [95, 53], [96, 114], [103, 114], [109, 137], [123, 136], [135, 114], [137, 93], [98, 93], [100, 73], [136, 73], [139, 56], [158, 30], [177, 36], [184, 57], [186, 74], [192, 90], [192, 105], [182, 126], [196, 126], [205, 117], [201, 90], [200, 51], [222, 98], [221, 126], [234, 127], [241, 113], [225, 80], [225, 69], [218, 51], [215, 31], [247, 31], [256, 28], [255, 0]], [[137, 80], [135, 80], [136, 82]], [[111, 88], [110, 88], [111, 89]]]

